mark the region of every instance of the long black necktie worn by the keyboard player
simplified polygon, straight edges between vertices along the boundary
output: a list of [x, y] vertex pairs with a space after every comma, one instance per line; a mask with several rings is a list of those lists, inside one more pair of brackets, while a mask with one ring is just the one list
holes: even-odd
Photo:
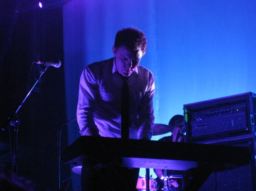
[[121, 100], [121, 138], [129, 139], [129, 118], [130, 118], [130, 102], [129, 102], [129, 87], [128, 87], [128, 77], [123, 78], [123, 88], [122, 88], [122, 100]]

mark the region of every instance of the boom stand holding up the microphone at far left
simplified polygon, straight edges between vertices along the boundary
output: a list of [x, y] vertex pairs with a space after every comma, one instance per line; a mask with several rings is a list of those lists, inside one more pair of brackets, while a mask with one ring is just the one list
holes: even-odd
[[[21, 106], [25, 103], [27, 100], [28, 96], [32, 92], [32, 90], [35, 88], [37, 82], [41, 82], [41, 77], [43, 76], [44, 72], [46, 71], [48, 67], [44, 66], [44, 68], [40, 71], [39, 75], [36, 78], [36, 82], [34, 83], [33, 87], [29, 90], [27, 93], [26, 97], [24, 100], [20, 103], [19, 107], [15, 112], [12, 112], [8, 120], [6, 121], [5, 125], [2, 127], [2, 130], [5, 131], [10, 125], [14, 126], [14, 151], [13, 151], [13, 158], [11, 159], [12, 161], [12, 177], [14, 178], [16, 175], [16, 180], [17, 180], [17, 143], [18, 143], [18, 124], [20, 123], [20, 119], [18, 118], [18, 111], [21, 108]], [[11, 144], [11, 143], [10, 143]]]

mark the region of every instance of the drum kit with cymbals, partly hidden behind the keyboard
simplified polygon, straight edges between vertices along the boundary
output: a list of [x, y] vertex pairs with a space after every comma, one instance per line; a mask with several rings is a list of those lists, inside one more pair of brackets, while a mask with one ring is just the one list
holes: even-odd
[[[162, 134], [166, 134], [169, 133], [173, 130], [173, 127], [171, 127], [170, 125], [165, 125], [165, 124], [154, 124], [154, 131], [153, 131], [153, 135], [162, 135]], [[72, 168], [72, 171], [76, 174], [81, 174], [81, 170], [82, 170], [82, 166], [76, 166]], [[166, 178], [166, 177], [165, 177]], [[138, 191], [146, 191], [147, 190], [147, 183], [146, 183], [146, 178], [145, 177], [138, 177], [138, 182], [137, 182], [137, 186], [136, 189], [138, 189]], [[150, 191], [156, 191], [158, 190], [157, 187], [157, 181], [153, 178], [149, 178], [149, 190]]]

